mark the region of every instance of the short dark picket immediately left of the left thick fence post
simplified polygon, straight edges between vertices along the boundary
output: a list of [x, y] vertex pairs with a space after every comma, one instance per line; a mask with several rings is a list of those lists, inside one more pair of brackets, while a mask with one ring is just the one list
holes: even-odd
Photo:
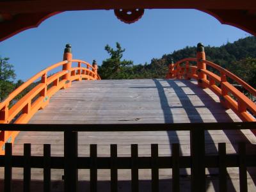
[[44, 144], [44, 192], [51, 191], [51, 145]]

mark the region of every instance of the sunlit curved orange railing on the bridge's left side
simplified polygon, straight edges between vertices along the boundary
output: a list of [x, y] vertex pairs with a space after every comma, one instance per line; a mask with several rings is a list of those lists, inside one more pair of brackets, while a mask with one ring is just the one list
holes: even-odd
[[[72, 67], [77, 63], [77, 67]], [[47, 76], [51, 70], [62, 67], [62, 70]], [[17, 96], [26, 90], [37, 79], [34, 88], [24, 97], [17, 100]], [[0, 103], [0, 124], [26, 124], [39, 109], [45, 108], [49, 99], [60, 89], [71, 86], [72, 81], [98, 80], [97, 63], [90, 65], [86, 61], [72, 60], [71, 46], [66, 45], [63, 61], [38, 72]], [[11, 103], [14, 103], [10, 105]], [[4, 143], [13, 143], [19, 131], [0, 131], [0, 154], [4, 153]]]

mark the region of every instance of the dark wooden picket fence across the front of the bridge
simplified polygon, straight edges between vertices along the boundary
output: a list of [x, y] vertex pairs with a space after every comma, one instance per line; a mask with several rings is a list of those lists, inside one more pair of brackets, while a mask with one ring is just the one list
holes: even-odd
[[[111, 170], [111, 191], [117, 191], [118, 169], [131, 170], [131, 189], [139, 190], [139, 169], [152, 170], [152, 191], [159, 191], [159, 168], [172, 168], [172, 191], [180, 191], [180, 168], [191, 168], [191, 191], [205, 191], [205, 168], [219, 168], [220, 191], [227, 191], [227, 167], [239, 168], [240, 191], [248, 191], [246, 167], [256, 166], [256, 154], [246, 154], [239, 143], [238, 154], [226, 154], [225, 143], [218, 143], [218, 154], [205, 156], [205, 131], [256, 129], [255, 122], [205, 124], [104, 124], [104, 125], [32, 125], [0, 124], [1, 131], [62, 131], [64, 157], [51, 157], [51, 145], [44, 145], [44, 156], [31, 156], [31, 144], [24, 144], [24, 156], [12, 155], [12, 143], [6, 143], [0, 156], [4, 167], [4, 191], [12, 191], [12, 168], [24, 168], [24, 191], [30, 191], [31, 168], [44, 169], [44, 191], [51, 191], [51, 169], [64, 169], [65, 191], [77, 191], [77, 169], [90, 170], [90, 191], [97, 191], [97, 170]], [[110, 157], [97, 157], [97, 145], [90, 145], [90, 157], [77, 157], [79, 131], [190, 131], [191, 156], [180, 156], [179, 143], [172, 144], [172, 156], [158, 156], [158, 145], [151, 144], [151, 157], [138, 156], [138, 144], [131, 145], [131, 157], [118, 157], [117, 145]]]

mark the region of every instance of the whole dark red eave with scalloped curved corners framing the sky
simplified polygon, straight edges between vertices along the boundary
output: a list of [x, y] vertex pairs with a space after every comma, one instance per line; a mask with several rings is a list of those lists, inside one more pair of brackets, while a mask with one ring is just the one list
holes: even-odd
[[43, 20], [69, 10], [135, 8], [188, 8], [209, 13], [228, 24], [256, 35], [255, 0], [16, 0], [0, 1], [0, 41], [35, 28]]

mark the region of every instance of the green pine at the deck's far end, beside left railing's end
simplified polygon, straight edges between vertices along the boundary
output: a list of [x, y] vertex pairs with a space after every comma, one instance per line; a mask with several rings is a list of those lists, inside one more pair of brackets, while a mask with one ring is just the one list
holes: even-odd
[[99, 75], [102, 79], [127, 79], [127, 73], [129, 66], [133, 64], [132, 61], [121, 60], [123, 52], [121, 45], [116, 42], [116, 50], [106, 45], [105, 50], [108, 52], [110, 58], [102, 61], [102, 65], [99, 67]]

